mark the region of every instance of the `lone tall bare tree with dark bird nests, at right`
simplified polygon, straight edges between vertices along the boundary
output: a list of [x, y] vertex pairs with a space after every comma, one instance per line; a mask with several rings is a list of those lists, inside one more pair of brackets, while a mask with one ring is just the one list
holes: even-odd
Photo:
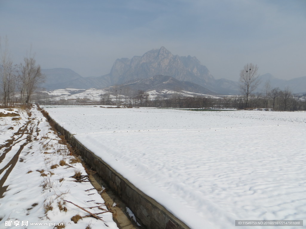
[[248, 106], [248, 97], [259, 85], [259, 75], [256, 75], [258, 71], [257, 64], [254, 66], [251, 64], [244, 65], [244, 68], [240, 71], [240, 89], [246, 96], [245, 107]]

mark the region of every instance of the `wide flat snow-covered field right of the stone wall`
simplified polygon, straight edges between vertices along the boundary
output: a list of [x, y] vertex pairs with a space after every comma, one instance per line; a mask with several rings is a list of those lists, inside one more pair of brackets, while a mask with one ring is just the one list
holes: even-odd
[[306, 112], [45, 109], [190, 228], [306, 219]]

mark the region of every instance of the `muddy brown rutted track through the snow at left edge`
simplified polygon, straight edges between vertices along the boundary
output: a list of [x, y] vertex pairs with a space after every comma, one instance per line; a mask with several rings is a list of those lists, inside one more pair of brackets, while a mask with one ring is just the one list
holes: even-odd
[[[38, 123], [36, 123], [36, 125], [38, 125]], [[13, 139], [7, 140], [6, 144], [0, 146], [0, 150], [5, 148], [0, 156], [0, 198], [3, 197], [4, 192], [7, 190], [8, 186], [3, 185], [18, 162], [21, 151], [27, 144], [32, 142], [34, 127], [35, 123], [32, 122], [32, 119], [29, 119], [28, 122], [21, 126], [14, 134]], [[13, 150], [13, 147], [19, 147], [19, 149], [17, 151], [15, 149]], [[5, 158], [11, 159], [9, 162], [4, 162]]]

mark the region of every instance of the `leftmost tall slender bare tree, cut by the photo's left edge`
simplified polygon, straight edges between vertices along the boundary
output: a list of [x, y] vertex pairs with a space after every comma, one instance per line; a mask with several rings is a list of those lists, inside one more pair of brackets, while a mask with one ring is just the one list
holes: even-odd
[[3, 96], [3, 104], [5, 106], [11, 103], [16, 87], [16, 67], [13, 65], [13, 61], [10, 58], [8, 47], [8, 39], [6, 38], [5, 47], [3, 49], [0, 37], [0, 86]]

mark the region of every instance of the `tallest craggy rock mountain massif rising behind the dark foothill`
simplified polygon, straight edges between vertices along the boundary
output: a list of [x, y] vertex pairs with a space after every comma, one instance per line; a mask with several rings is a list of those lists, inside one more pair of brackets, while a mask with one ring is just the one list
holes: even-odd
[[116, 60], [109, 75], [109, 85], [121, 84], [136, 78], [168, 75], [180, 81], [206, 85], [214, 78], [196, 57], [173, 55], [165, 47], [152, 49], [143, 56]]

